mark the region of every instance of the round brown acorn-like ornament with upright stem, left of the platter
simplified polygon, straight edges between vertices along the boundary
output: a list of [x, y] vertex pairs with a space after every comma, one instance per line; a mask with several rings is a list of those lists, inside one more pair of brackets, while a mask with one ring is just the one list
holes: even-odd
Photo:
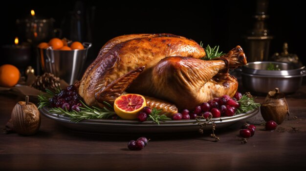
[[7, 132], [16, 132], [22, 135], [37, 133], [41, 125], [41, 115], [34, 103], [29, 102], [29, 96], [25, 96], [25, 102], [19, 101], [12, 110], [11, 119], [7, 122]]

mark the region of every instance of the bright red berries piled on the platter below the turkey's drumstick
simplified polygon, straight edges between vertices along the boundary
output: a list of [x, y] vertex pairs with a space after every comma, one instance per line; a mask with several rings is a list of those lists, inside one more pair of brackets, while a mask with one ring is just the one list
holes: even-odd
[[229, 95], [222, 95], [219, 98], [214, 98], [196, 106], [193, 112], [184, 109], [181, 113], [174, 114], [173, 119], [195, 119], [197, 116], [203, 116], [204, 118], [210, 116], [232, 116], [236, 113], [236, 109], [240, 107], [240, 104], [237, 101], [240, 100], [241, 97], [242, 94], [239, 92], [236, 92], [234, 98], [231, 98]]

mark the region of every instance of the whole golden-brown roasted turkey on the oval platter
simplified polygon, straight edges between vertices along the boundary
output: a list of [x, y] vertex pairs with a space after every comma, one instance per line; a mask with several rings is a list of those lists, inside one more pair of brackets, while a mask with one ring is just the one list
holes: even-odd
[[[240, 46], [214, 60], [201, 60], [197, 42], [172, 34], [133, 34], [109, 40], [80, 80], [87, 105], [113, 103], [125, 92], [147, 95], [151, 107], [192, 110], [221, 95], [233, 96], [237, 79], [229, 68], [246, 64]], [[157, 105], [158, 104], [158, 105]], [[157, 105], [157, 106], [156, 106]]]

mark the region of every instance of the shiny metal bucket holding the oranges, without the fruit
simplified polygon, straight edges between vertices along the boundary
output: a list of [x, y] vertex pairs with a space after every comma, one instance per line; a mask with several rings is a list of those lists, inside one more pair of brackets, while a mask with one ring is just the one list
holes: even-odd
[[83, 50], [38, 49], [39, 59], [44, 72], [64, 79], [69, 85], [75, 83], [82, 74], [91, 43], [84, 42]]

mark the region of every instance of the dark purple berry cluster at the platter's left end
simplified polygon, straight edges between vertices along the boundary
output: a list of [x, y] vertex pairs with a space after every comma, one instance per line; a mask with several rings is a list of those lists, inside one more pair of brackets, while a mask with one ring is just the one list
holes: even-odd
[[59, 94], [49, 98], [50, 107], [62, 108], [67, 111], [74, 110], [77, 112], [80, 112], [80, 107], [83, 106], [80, 100], [83, 100], [83, 98], [77, 93], [77, 89], [74, 85], [62, 89]]

